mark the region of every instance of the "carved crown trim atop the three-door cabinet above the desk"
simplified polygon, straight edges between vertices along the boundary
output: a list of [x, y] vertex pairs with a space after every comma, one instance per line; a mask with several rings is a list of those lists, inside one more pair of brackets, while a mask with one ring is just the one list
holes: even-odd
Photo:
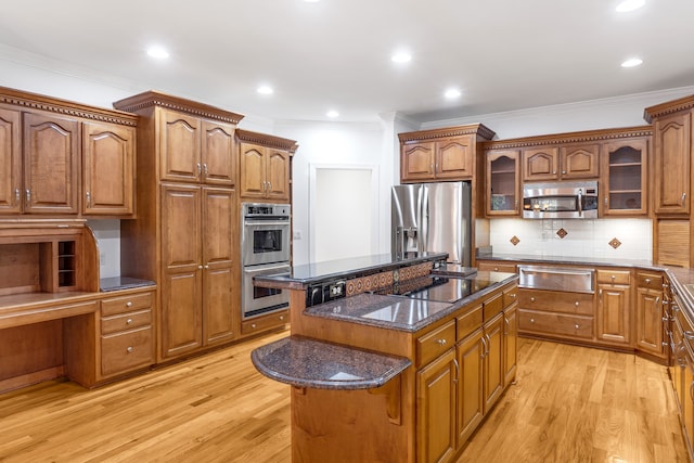
[[100, 120], [129, 127], [138, 126], [138, 116], [129, 113], [89, 106], [7, 87], [0, 87], [0, 103], [22, 106], [28, 110], [48, 111], [81, 119]]

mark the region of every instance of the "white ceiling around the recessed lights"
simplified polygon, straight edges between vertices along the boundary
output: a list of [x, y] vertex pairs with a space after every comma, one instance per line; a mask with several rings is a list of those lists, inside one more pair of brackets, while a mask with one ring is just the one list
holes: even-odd
[[[420, 121], [694, 85], [694, 1], [14, 0], [0, 44], [271, 119]], [[157, 62], [145, 49], [169, 49]], [[412, 61], [396, 64], [400, 49]], [[643, 65], [621, 68], [638, 55]], [[1, 61], [0, 61], [1, 66]], [[261, 83], [274, 88], [261, 95]], [[0, 77], [1, 85], [1, 77]], [[444, 90], [458, 87], [457, 101]]]

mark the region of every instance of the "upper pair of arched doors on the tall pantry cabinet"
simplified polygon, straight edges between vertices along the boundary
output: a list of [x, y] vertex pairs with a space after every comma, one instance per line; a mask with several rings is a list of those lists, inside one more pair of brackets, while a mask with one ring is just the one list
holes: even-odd
[[162, 180], [233, 185], [234, 126], [163, 110]]

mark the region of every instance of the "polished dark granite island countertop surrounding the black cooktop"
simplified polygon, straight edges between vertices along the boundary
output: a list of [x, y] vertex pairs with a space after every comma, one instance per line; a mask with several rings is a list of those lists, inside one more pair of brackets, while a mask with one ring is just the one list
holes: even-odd
[[[515, 273], [480, 271], [417, 295], [362, 293], [308, 307], [304, 313], [388, 330], [416, 332], [471, 301], [517, 280]], [[445, 279], [446, 280], [446, 279]]]

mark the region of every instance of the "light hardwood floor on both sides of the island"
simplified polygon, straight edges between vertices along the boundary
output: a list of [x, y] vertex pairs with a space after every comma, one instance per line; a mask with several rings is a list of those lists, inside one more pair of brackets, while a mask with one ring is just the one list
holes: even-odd
[[[252, 349], [285, 335], [94, 390], [48, 382], [0, 395], [0, 461], [288, 462], [290, 388], [249, 361]], [[685, 461], [666, 368], [528, 339], [517, 384], [459, 460]]]

